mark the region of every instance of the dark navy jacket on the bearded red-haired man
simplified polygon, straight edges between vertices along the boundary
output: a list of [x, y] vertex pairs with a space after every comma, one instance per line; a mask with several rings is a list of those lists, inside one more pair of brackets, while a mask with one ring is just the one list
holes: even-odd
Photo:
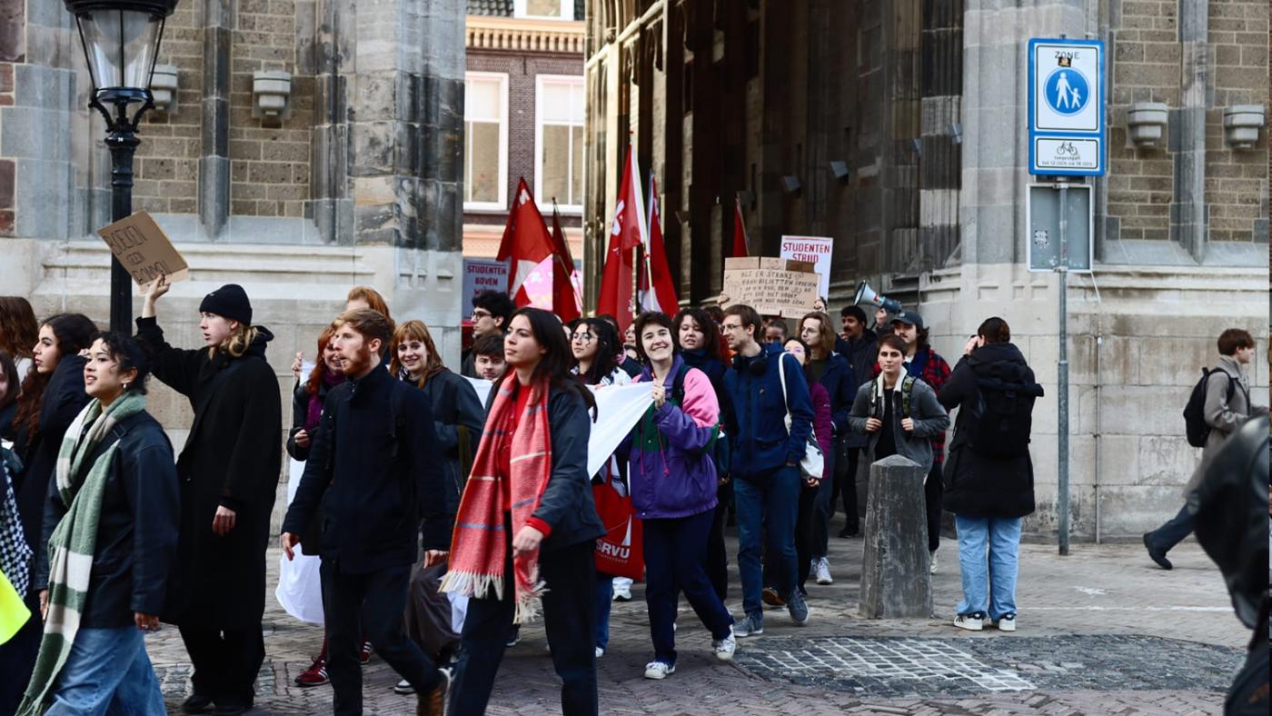
[[375, 368], [327, 394], [305, 473], [282, 520], [301, 534], [319, 501], [324, 562], [351, 572], [410, 566], [424, 548], [446, 549], [440, 449], [422, 392]]

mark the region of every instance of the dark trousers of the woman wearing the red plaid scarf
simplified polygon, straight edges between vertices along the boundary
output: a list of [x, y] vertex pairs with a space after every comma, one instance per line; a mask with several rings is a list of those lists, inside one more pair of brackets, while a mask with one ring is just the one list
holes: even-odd
[[[509, 530], [505, 530], [509, 532]], [[543, 628], [552, 665], [561, 677], [561, 713], [597, 716], [595, 562], [593, 540], [539, 552], [543, 594]], [[481, 716], [495, 688], [516, 603], [513, 585], [513, 547], [504, 563], [504, 599], [469, 599], [460, 636], [459, 663], [450, 689], [450, 716]], [[329, 617], [328, 617], [329, 618]], [[371, 642], [374, 644], [374, 642]]]

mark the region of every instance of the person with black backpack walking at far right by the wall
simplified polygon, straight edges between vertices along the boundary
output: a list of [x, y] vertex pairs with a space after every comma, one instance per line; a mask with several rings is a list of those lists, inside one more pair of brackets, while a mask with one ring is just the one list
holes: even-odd
[[[1201, 462], [1197, 463], [1184, 487], [1186, 497], [1197, 488], [1202, 476], [1206, 474], [1206, 467], [1224, 441], [1245, 421], [1268, 415], [1267, 406], [1255, 406], [1250, 401], [1250, 379], [1245, 374], [1245, 366], [1254, 359], [1254, 337], [1249, 331], [1229, 328], [1219, 334], [1216, 343], [1219, 362], [1206, 375], [1206, 399], [1202, 407], [1202, 420], [1210, 430], [1201, 451]], [[1184, 505], [1174, 518], [1144, 534], [1144, 547], [1149, 551], [1149, 558], [1163, 570], [1172, 568], [1174, 565], [1166, 558], [1166, 553], [1192, 534], [1192, 513], [1188, 511], [1188, 505]]]

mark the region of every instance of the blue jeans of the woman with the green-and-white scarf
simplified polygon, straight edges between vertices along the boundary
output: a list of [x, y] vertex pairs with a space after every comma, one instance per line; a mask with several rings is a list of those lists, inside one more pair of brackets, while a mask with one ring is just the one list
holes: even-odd
[[75, 632], [52, 697], [45, 713], [53, 716], [167, 713], [145, 638], [135, 626]]

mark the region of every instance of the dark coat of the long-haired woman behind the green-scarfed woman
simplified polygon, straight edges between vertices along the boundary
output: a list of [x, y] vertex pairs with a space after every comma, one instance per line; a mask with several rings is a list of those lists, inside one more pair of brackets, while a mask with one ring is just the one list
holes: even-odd
[[[45, 499], [48, 496], [48, 483], [53, 479], [57, 467], [57, 451], [62, 448], [62, 436], [75, 421], [89, 397], [84, 392], [84, 365], [88, 359], [64, 356], [48, 378], [45, 396], [41, 398], [39, 423], [34, 435], [27, 434], [27, 427], [18, 429], [14, 453], [22, 459], [23, 469], [14, 481], [14, 493], [18, 497], [18, 515], [22, 518], [22, 532], [27, 544], [36, 554], [45, 552], [41, 542], [45, 520]], [[32, 370], [36, 370], [32, 366]]]

